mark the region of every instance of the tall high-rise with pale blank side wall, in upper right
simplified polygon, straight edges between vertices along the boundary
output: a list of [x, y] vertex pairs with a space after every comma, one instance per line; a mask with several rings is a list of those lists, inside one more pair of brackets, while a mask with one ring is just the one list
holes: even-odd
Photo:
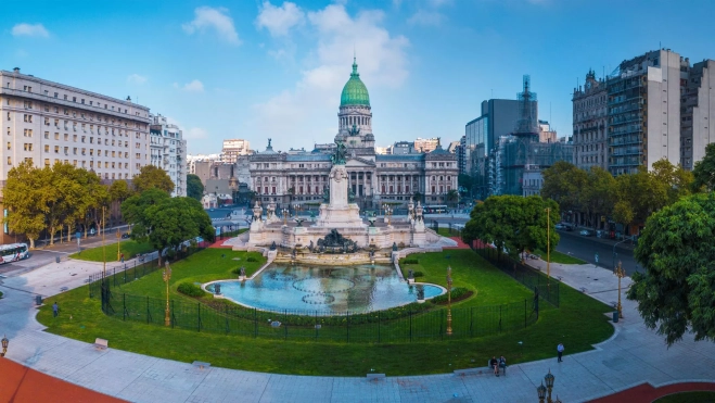
[[633, 174], [666, 159], [680, 163], [680, 89], [687, 63], [669, 49], [622, 62], [608, 77], [609, 171]]

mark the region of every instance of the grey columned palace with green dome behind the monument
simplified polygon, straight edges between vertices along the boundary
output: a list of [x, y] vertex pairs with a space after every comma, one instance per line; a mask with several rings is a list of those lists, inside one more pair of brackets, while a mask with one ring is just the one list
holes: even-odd
[[[430, 153], [375, 154], [372, 108], [368, 87], [360, 79], [357, 61], [341, 92], [335, 142], [347, 147], [346, 169], [355, 202], [365, 210], [384, 203], [407, 205], [417, 194], [424, 204], [446, 204], [446, 194], [457, 190], [457, 155], [442, 146]], [[322, 202], [332, 167], [334, 144], [315, 144], [308, 152], [266, 151], [250, 156], [251, 184], [263, 204], [278, 211], [289, 205]], [[308, 148], [311, 149], [311, 148]]]

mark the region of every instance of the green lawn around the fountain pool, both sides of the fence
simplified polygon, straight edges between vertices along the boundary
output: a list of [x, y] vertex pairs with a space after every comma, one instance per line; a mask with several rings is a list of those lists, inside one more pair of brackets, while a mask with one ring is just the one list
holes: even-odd
[[[246, 274], [251, 275], [263, 264], [263, 257], [260, 262], [246, 263], [247, 255], [246, 252], [207, 249], [173, 263], [173, 298], [191, 301], [176, 291], [176, 286], [182, 281], [233, 278], [235, 275], [230, 270], [239, 265], [245, 265]], [[450, 259], [447, 260], [447, 255]], [[408, 267], [419, 266], [425, 274], [424, 281], [444, 285], [445, 268], [451, 265], [454, 287], [476, 291], [455, 306], [491, 305], [531, 295], [523, 286], [470, 250], [417, 256], [420, 264]], [[241, 261], [233, 261], [233, 257]], [[114, 291], [161, 297], [164, 287], [159, 270]], [[52, 317], [51, 310], [55, 301], [61, 308], [56, 318]], [[609, 306], [563, 285], [562, 307], [557, 310], [541, 302], [539, 320], [525, 329], [467, 340], [393, 344], [295, 341], [171, 329], [108, 317], [100, 305], [100, 299], [89, 299], [88, 286], [84, 286], [49, 298], [39, 311], [38, 320], [52, 333], [86, 342], [104, 338], [113, 349], [163, 358], [186, 363], [197, 360], [219, 367], [266, 373], [325, 376], [365, 376], [371, 369], [388, 376], [449, 373], [457, 368], [483, 367], [488, 357], [501, 354], [514, 364], [556, 357], [559, 342], [564, 343], [567, 354], [591, 350], [591, 344], [613, 333], [604, 315], [611, 311]]]

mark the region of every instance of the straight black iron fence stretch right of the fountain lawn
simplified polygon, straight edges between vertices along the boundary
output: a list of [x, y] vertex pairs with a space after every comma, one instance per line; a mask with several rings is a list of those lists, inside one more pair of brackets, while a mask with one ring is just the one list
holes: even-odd
[[495, 248], [474, 248], [472, 249], [501, 272], [508, 274], [516, 281], [534, 290], [542, 300], [559, 307], [559, 285], [561, 281], [553, 277], [547, 278], [542, 273], [511, 259], [506, 253], [499, 253]]

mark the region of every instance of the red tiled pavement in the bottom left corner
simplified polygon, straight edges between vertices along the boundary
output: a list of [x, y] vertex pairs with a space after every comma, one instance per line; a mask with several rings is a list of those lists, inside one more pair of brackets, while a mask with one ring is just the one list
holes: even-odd
[[125, 401], [65, 382], [10, 360], [0, 358], [0, 402], [120, 403]]

